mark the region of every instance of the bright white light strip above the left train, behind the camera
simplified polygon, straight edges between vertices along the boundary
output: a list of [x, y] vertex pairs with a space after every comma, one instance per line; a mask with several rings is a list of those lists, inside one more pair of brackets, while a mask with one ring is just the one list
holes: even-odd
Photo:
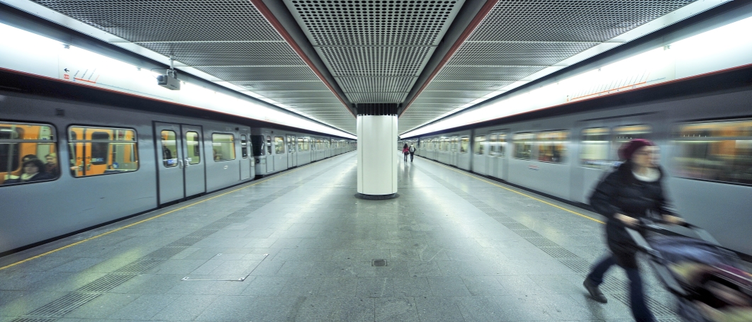
[[80, 47], [65, 47], [59, 41], [5, 24], [0, 24], [0, 42], [4, 44], [0, 47], [0, 68], [308, 131], [356, 138], [302, 116], [216, 92], [203, 84], [181, 81], [179, 91], [163, 89], [156, 84], [157, 73], [147, 68], [139, 68]]

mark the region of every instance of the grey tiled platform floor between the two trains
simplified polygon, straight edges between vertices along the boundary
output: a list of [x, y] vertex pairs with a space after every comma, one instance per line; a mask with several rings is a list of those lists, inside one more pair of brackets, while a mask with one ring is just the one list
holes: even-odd
[[419, 157], [355, 193], [347, 153], [0, 258], [53, 251], [0, 269], [0, 322], [632, 320], [620, 269], [608, 304], [582, 287], [599, 215]]

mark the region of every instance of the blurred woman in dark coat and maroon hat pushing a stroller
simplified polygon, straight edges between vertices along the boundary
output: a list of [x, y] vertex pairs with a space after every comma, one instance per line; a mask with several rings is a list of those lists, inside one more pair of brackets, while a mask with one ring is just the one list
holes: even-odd
[[629, 277], [629, 301], [632, 315], [638, 322], [654, 321], [653, 314], [645, 305], [642, 279], [635, 254], [637, 248], [625, 227], [638, 229], [638, 218], [662, 215], [663, 219], [680, 223], [681, 218], [672, 215], [661, 185], [663, 170], [658, 165], [658, 147], [649, 140], [635, 139], [625, 143], [619, 156], [626, 160], [617, 170], [608, 174], [590, 197], [590, 205], [606, 221], [606, 239], [611, 254], [593, 267], [585, 278], [584, 286], [598, 302], [607, 302], [598, 289], [603, 275], [614, 264], [626, 270]]

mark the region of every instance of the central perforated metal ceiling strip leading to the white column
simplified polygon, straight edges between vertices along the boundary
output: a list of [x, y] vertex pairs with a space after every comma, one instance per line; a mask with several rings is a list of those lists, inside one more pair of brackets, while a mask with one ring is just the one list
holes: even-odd
[[463, 3], [285, 0], [352, 103], [405, 101]]

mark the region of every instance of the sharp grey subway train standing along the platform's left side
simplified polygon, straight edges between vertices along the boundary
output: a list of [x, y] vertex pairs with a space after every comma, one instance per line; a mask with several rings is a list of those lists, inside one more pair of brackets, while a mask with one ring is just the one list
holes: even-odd
[[[252, 133], [271, 140], [254, 146]], [[338, 137], [0, 92], [0, 256], [353, 149]]]

